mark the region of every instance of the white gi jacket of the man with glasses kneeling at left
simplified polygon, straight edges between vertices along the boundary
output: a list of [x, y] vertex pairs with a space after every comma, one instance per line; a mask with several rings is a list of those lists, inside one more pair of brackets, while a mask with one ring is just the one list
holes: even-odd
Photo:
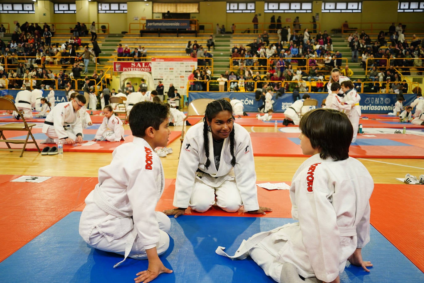
[[72, 101], [56, 104], [44, 121], [42, 129], [43, 133], [47, 133], [47, 129], [51, 126], [50, 123], [53, 123], [55, 132], [59, 139], [68, 138], [68, 134], [65, 130], [65, 127], [68, 125], [73, 128], [73, 131], [77, 136], [80, 134], [82, 135], [80, 112], [78, 110], [74, 111]]

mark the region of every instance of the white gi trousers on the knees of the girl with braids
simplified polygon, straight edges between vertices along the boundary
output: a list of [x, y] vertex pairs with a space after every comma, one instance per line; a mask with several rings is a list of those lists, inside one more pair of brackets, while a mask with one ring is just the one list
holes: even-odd
[[226, 180], [214, 188], [196, 178], [190, 197], [191, 209], [203, 213], [215, 204], [226, 212], [237, 212], [242, 207], [243, 202], [236, 181]]

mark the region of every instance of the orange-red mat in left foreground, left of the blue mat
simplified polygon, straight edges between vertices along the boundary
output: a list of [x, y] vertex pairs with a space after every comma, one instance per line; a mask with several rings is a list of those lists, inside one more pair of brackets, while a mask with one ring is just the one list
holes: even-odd
[[97, 178], [52, 177], [41, 183], [0, 177], [0, 261], [84, 203]]

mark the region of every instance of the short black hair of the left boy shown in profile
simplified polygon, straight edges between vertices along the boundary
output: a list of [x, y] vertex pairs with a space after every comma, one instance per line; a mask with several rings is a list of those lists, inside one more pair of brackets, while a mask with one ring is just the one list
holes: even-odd
[[142, 101], [134, 104], [128, 121], [134, 137], [144, 137], [148, 127], [158, 130], [160, 124], [169, 117], [169, 110], [165, 105]]

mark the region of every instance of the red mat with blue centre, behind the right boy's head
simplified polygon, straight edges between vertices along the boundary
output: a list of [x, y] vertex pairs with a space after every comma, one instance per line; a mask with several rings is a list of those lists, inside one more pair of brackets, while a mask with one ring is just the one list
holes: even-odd
[[[304, 157], [299, 133], [251, 133], [254, 156]], [[413, 134], [358, 134], [349, 148], [355, 158], [424, 158], [424, 138]]]

